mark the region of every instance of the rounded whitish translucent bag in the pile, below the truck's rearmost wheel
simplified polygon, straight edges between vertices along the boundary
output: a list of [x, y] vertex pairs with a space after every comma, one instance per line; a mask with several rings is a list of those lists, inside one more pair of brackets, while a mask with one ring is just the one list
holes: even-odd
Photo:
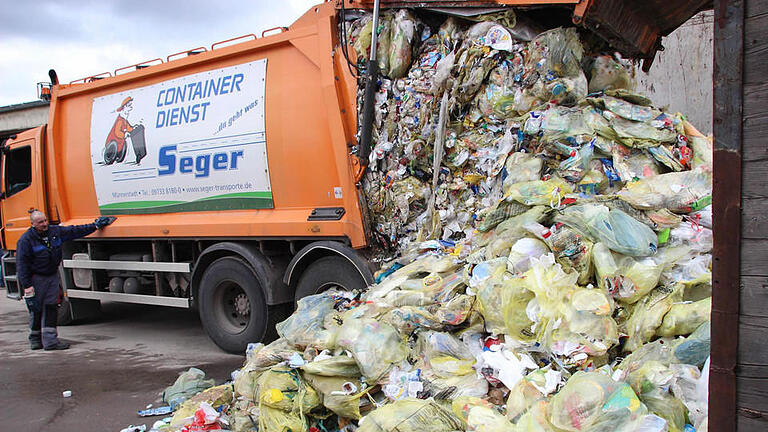
[[371, 318], [347, 319], [338, 345], [352, 353], [368, 382], [377, 382], [393, 364], [403, 361], [408, 347], [392, 326]]

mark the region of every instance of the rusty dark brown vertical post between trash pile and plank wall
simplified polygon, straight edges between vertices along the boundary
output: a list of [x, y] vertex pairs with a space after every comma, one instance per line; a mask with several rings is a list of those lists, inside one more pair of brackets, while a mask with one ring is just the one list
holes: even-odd
[[715, 0], [714, 238], [709, 429], [736, 428], [739, 268], [741, 248], [741, 139], [744, 1]]

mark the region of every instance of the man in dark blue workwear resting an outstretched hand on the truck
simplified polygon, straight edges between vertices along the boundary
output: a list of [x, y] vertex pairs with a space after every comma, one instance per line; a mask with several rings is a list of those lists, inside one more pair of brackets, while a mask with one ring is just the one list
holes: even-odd
[[30, 213], [32, 227], [16, 243], [16, 268], [19, 286], [29, 309], [29, 344], [33, 350], [63, 350], [69, 344], [62, 342], [56, 332], [59, 290], [59, 264], [61, 244], [79, 239], [101, 229], [114, 218], [100, 217], [87, 225], [48, 225], [45, 213]]

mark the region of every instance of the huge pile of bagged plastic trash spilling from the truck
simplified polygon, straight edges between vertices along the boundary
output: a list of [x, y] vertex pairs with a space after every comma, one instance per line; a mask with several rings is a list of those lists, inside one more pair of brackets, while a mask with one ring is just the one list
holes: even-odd
[[576, 29], [378, 27], [364, 187], [394, 258], [155, 430], [706, 431], [711, 140]]

